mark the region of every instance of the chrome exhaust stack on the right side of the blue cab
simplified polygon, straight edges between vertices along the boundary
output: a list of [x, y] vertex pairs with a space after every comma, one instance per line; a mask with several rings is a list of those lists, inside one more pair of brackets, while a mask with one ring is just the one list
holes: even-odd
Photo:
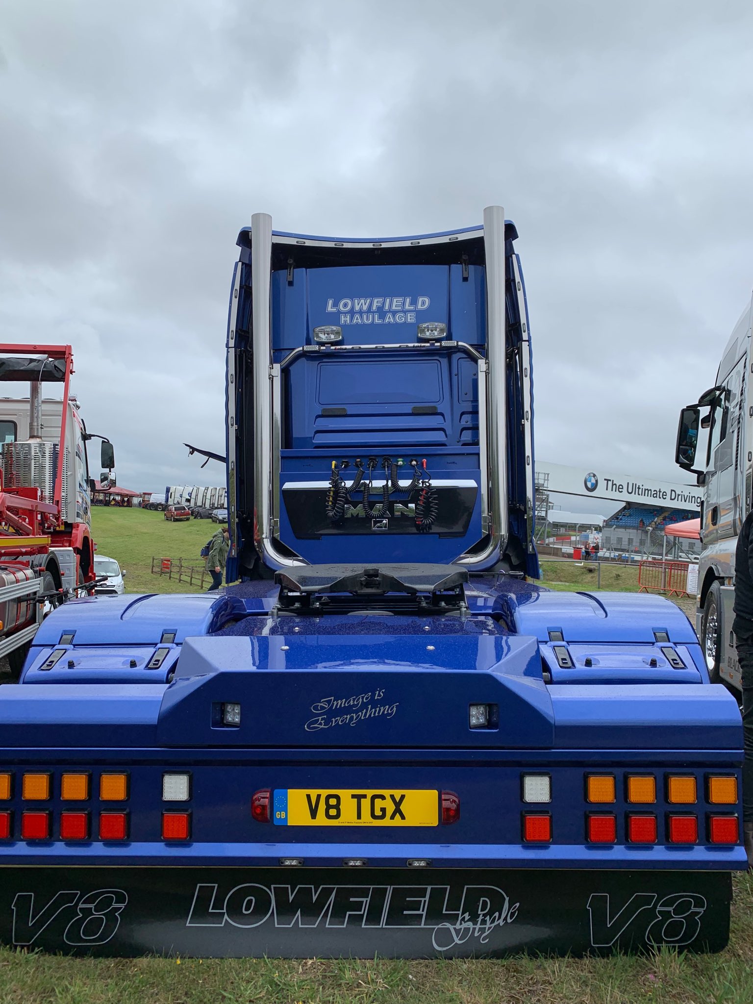
[[479, 362], [479, 460], [481, 525], [489, 539], [483, 550], [461, 554], [466, 568], [489, 568], [502, 556], [507, 514], [507, 310], [505, 305], [505, 211], [484, 210], [486, 255], [486, 359]]

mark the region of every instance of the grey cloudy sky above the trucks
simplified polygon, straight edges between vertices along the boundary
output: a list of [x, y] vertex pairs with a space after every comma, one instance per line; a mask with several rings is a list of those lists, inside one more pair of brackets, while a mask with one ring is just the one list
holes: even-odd
[[252, 212], [383, 236], [498, 203], [538, 456], [681, 480], [753, 285], [751, 65], [746, 0], [0, 0], [2, 338], [73, 345], [120, 484], [219, 483], [181, 444], [224, 452]]

